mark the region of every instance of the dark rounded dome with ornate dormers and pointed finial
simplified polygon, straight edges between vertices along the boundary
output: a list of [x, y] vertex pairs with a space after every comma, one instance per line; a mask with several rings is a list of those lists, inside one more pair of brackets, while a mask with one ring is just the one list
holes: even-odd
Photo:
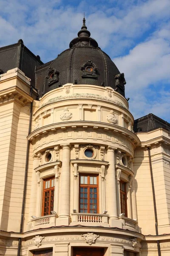
[[66, 83], [73, 83], [110, 86], [125, 96], [124, 74], [120, 74], [111, 58], [90, 35], [84, 17], [78, 37], [70, 42], [70, 48], [51, 62], [45, 76], [44, 93]]

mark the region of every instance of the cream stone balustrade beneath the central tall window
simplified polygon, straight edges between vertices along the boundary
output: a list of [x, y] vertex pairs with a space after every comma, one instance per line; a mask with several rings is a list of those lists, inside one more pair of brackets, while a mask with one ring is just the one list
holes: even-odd
[[94, 213], [72, 213], [71, 225], [109, 227], [108, 215]]

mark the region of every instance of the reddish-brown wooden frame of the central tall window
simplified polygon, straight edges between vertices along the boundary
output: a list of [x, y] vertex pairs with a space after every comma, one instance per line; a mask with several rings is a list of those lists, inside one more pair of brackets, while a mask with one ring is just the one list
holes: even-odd
[[[86, 176], [88, 177], [88, 184], [80, 184], [80, 179], [81, 179], [81, 176]], [[90, 184], [90, 177], [97, 177], [97, 184], [96, 185], [93, 185], [93, 184]], [[96, 175], [96, 174], [81, 174], [79, 175], [79, 212], [80, 212], [80, 189], [81, 188], [88, 188], [88, 209], [87, 209], [87, 212], [81, 212], [81, 213], [91, 213], [90, 212], [90, 188], [96, 188], [97, 189], [97, 212], [96, 214], [99, 213], [99, 175]], [[81, 203], [82, 204], [82, 203]], [[95, 213], [94, 213], [95, 214]]]

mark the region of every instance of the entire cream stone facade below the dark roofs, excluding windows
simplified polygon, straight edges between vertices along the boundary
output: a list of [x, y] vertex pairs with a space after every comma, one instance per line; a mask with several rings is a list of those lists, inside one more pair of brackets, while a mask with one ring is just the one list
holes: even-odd
[[[134, 134], [128, 103], [112, 88], [108, 94], [105, 87], [65, 84], [40, 101], [36, 91], [30, 96], [29, 88], [29, 79], [18, 69], [0, 77], [0, 254], [16, 256], [20, 243], [22, 256], [48, 248], [53, 248], [54, 256], [73, 256], [78, 247], [104, 248], [105, 256], [123, 256], [126, 251], [157, 256], [159, 241], [161, 256], [168, 256], [168, 131], [158, 128]], [[92, 157], [85, 155], [89, 148]], [[81, 174], [98, 177], [96, 214], [79, 211]], [[48, 177], [55, 182], [54, 209], [53, 214], [42, 216], [43, 180]], [[121, 180], [126, 184], [127, 217], [120, 207]]]

